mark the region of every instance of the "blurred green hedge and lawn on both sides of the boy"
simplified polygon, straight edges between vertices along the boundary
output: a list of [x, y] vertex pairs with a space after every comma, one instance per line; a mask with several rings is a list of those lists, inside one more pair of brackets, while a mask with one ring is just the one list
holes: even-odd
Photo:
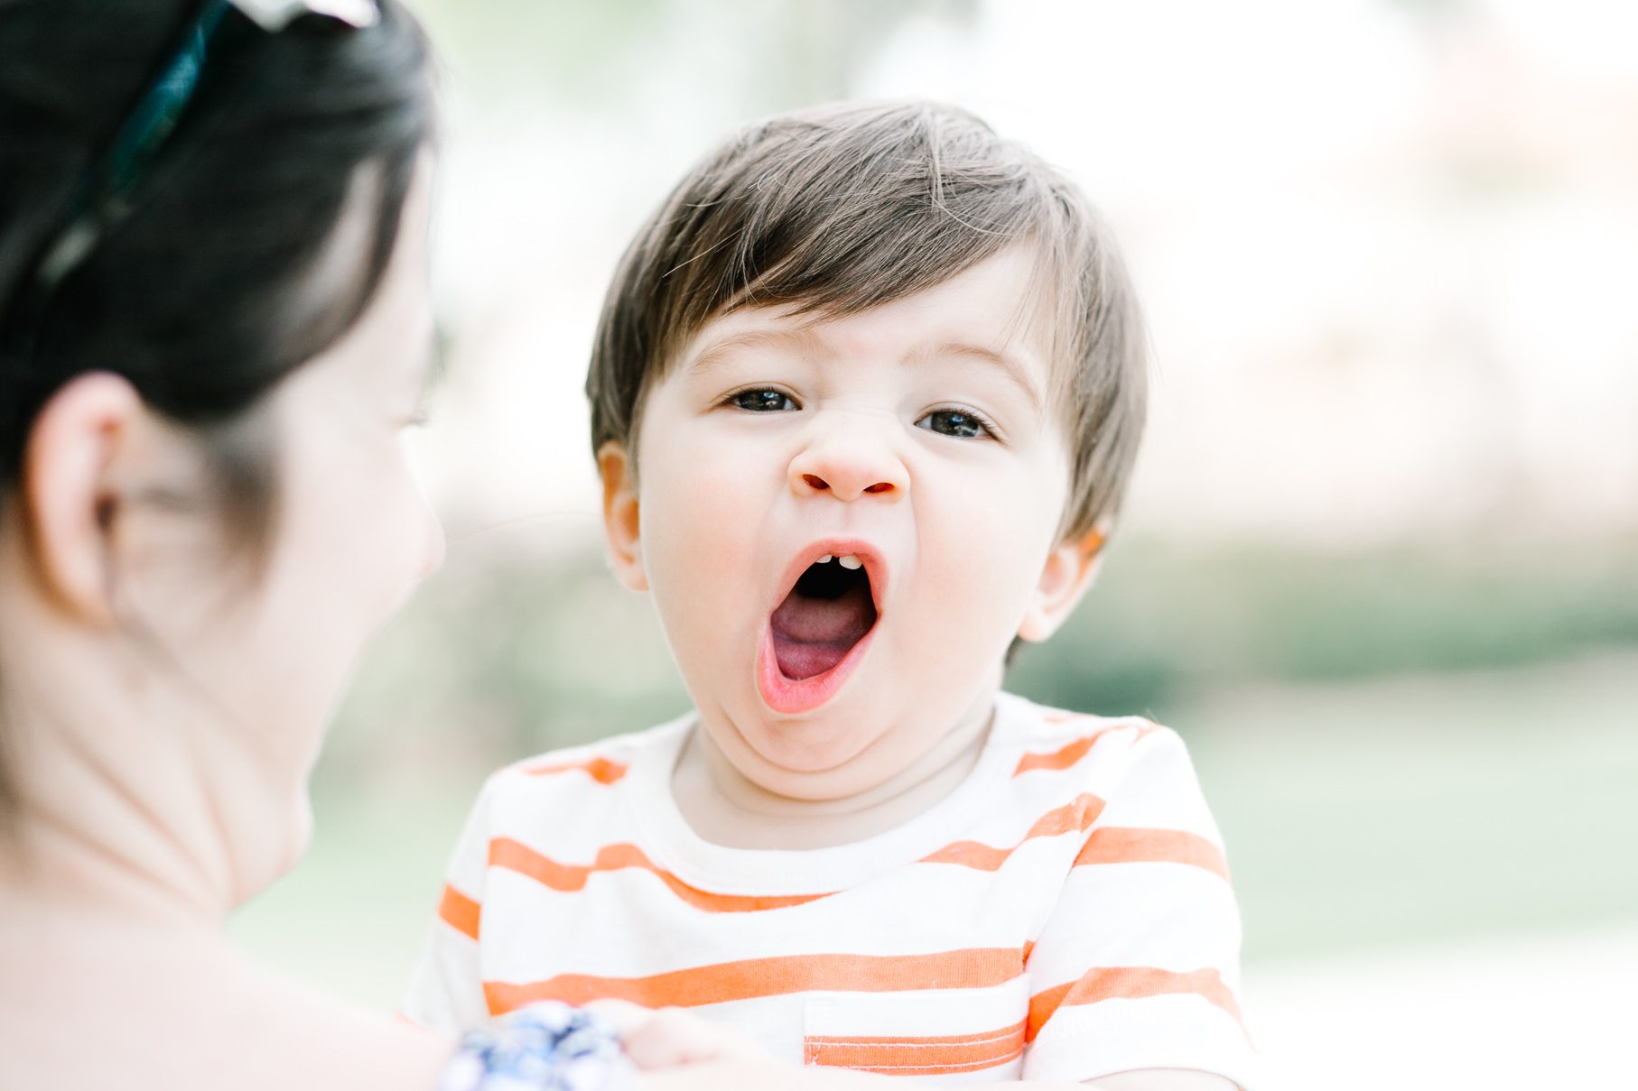
[[[1247, 958], [1638, 921], [1638, 555], [1120, 549], [1009, 688], [1189, 740]], [[388, 1006], [485, 772], [686, 708], [590, 550], [464, 549], [365, 663], [254, 950]]]

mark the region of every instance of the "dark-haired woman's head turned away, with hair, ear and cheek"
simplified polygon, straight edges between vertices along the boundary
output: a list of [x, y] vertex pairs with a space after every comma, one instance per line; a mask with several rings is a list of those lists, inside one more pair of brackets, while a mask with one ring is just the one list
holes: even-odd
[[[0, 0], [0, 596], [146, 645], [288, 765], [439, 552], [398, 437], [431, 341], [428, 56], [395, 0], [259, 31], [128, 213], [8, 308], [197, 11]], [[0, 675], [0, 701], [44, 685]], [[0, 809], [16, 791], [0, 754]]]

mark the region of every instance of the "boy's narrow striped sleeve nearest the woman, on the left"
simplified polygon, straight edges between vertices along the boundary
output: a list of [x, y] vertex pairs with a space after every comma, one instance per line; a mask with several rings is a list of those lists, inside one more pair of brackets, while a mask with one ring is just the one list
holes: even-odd
[[483, 922], [483, 881], [490, 855], [490, 811], [496, 776], [483, 785], [467, 816], [455, 855], [449, 863], [437, 916], [426, 948], [410, 981], [400, 1014], [411, 1022], [449, 1034], [468, 1030], [490, 1017], [483, 998], [478, 935]]

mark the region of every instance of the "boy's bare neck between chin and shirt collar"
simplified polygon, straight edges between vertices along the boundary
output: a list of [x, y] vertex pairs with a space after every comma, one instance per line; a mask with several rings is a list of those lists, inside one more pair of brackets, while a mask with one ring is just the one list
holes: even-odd
[[696, 724], [676, 760], [672, 791], [695, 834], [717, 845], [845, 845], [903, 826], [955, 791], [978, 763], [993, 718], [994, 701], [981, 701], [903, 773], [839, 799], [793, 799], [758, 786]]

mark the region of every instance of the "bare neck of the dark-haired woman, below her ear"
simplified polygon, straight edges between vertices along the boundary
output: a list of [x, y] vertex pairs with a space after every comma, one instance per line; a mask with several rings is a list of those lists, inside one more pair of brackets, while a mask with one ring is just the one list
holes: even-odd
[[300, 850], [305, 814], [152, 649], [0, 603], [0, 731], [18, 813], [0, 839], [0, 914], [106, 914], [219, 930]]

